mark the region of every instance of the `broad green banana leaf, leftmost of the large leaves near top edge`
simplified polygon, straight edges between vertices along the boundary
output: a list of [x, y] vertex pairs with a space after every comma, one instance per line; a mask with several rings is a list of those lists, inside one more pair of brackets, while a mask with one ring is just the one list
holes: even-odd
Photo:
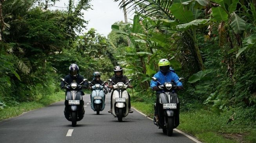
[[182, 4], [175, 3], [170, 7], [170, 11], [176, 19], [180, 20], [181, 23], [188, 23], [194, 20], [192, 11], [187, 9], [184, 10], [183, 8], [184, 6]]

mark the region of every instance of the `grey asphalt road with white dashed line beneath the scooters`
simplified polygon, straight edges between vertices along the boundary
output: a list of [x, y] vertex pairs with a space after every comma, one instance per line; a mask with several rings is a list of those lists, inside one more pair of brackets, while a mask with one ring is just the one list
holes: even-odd
[[174, 131], [162, 133], [142, 114], [134, 111], [118, 122], [106, 107], [99, 115], [91, 109], [89, 95], [84, 96], [85, 116], [76, 127], [64, 117], [64, 102], [24, 113], [0, 122], [0, 143], [195, 143]]

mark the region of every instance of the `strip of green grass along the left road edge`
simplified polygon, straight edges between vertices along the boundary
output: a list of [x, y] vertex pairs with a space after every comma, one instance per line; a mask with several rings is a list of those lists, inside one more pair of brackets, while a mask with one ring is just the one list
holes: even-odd
[[22, 102], [19, 105], [16, 105], [15, 107], [6, 107], [5, 109], [0, 109], [0, 120], [12, 118], [26, 111], [38, 109], [64, 99], [65, 99], [65, 92], [60, 91], [52, 95], [43, 96], [38, 101]]

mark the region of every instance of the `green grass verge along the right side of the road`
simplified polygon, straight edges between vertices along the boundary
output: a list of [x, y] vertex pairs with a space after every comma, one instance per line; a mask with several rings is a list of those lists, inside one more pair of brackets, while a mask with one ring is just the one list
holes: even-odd
[[[138, 111], [153, 118], [154, 106], [144, 102], [132, 102]], [[180, 113], [178, 129], [191, 134], [204, 143], [256, 143], [256, 125], [229, 123], [232, 112], [220, 114], [200, 110]]]

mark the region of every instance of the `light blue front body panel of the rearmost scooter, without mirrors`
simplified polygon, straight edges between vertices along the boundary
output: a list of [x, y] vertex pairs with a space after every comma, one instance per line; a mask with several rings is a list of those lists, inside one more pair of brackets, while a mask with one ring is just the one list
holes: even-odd
[[[105, 108], [105, 93], [103, 92], [103, 86], [100, 86], [100, 88], [96, 88], [95, 84], [92, 86], [92, 93], [91, 93], [91, 108], [93, 111], [96, 111], [96, 104], [100, 104], [100, 111], [103, 111]], [[101, 99], [94, 99], [94, 97], [100, 96]]]

